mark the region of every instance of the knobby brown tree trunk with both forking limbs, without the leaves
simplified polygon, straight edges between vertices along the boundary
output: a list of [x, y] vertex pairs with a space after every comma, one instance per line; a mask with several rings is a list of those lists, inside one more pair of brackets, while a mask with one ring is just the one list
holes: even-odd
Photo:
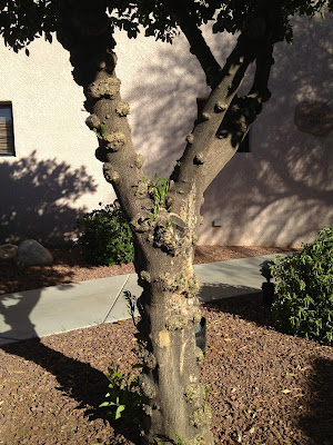
[[[212, 87], [181, 159], [170, 179], [165, 201], [142, 172], [143, 157], [133, 148], [115, 76], [114, 40], [104, 0], [59, 1], [58, 39], [69, 50], [73, 78], [83, 87], [87, 125], [99, 134], [97, 158], [112, 184], [134, 234], [135, 270], [143, 293], [139, 299], [140, 342], [144, 368], [140, 385], [145, 398], [143, 442], [171, 444], [175, 435], [185, 445], [213, 444], [211, 409], [199, 383], [194, 325], [201, 319], [199, 281], [192, 259], [200, 224], [203, 192], [232, 158], [249, 126], [268, 99], [272, 43], [262, 36], [241, 34], [223, 69], [211, 55], [200, 30], [170, 1], [191, 52], [202, 65]], [[169, 4], [170, 3], [170, 4]], [[244, 98], [236, 92], [256, 59], [253, 88]], [[153, 209], [153, 206], [158, 207]]]

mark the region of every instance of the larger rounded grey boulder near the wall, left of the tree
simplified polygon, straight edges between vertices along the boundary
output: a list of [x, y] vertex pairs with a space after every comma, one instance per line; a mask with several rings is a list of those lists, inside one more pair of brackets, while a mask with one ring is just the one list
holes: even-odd
[[41, 266], [51, 264], [53, 257], [34, 239], [26, 239], [19, 245], [16, 261], [20, 266]]

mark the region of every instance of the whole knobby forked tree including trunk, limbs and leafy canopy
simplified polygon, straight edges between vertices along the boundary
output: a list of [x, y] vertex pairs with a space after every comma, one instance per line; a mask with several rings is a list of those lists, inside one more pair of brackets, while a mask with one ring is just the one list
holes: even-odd
[[[327, 2], [317, 0], [246, 0], [240, 4], [193, 0], [6, 0], [0, 31], [16, 51], [46, 33], [70, 52], [73, 78], [83, 87], [88, 127], [98, 136], [95, 156], [134, 234], [135, 270], [143, 291], [138, 306], [138, 342], [144, 362], [140, 378], [144, 394], [145, 444], [212, 445], [212, 416], [199, 383], [194, 326], [201, 319], [199, 281], [192, 259], [201, 221], [203, 192], [233, 157], [271, 93], [268, 88], [275, 42], [292, 39], [289, 16], [313, 16]], [[332, 10], [332, 4], [329, 2]], [[118, 11], [120, 18], [112, 16]], [[216, 19], [214, 18], [216, 16]], [[33, 20], [31, 19], [33, 18]], [[147, 34], [170, 40], [180, 29], [199, 60], [211, 88], [198, 100], [198, 119], [168, 181], [153, 185], [142, 171], [143, 156], [134, 150], [127, 116], [130, 105], [120, 96], [113, 28], [135, 37], [139, 23]], [[214, 58], [200, 30], [239, 31], [225, 65]], [[137, 23], [137, 24], [135, 24]], [[255, 65], [248, 95], [239, 88]], [[181, 106], [181, 105], [180, 105]]]

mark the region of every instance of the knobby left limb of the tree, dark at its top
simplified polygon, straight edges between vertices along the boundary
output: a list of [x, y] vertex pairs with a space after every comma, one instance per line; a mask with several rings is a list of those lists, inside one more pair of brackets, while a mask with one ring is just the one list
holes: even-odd
[[[83, 87], [85, 123], [99, 137], [97, 158], [112, 184], [128, 218], [137, 220], [150, 206], [148, 182], [142, 172], [143, 157], [137, 155], [129, 121], [129, 105], [121, 100], [120, 80], [115, 77], [115, 41], [104, 12], [104, 0], [85, 8], [79, 2], [59, 2], [61, 32], [58, 39], [70, 51], [74, 80]], [[98, 7], [98, 10], [95, 10]]]

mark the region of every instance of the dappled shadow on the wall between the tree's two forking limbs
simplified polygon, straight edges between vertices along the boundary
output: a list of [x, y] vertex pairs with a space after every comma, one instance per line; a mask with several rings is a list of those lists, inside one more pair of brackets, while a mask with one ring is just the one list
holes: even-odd
[[[233, 48], [233, 39], [224, 36], [222, 47], [219, 53], [223, 60]], [[192, 131], [196, 98], [209, 96], [205, 77], [188, 42], [179, 37], [172, 46], [165, 43], [138, 78], [142, 79], [140, 85], [125, 96], [131, 105], [134, 145], [144, 155], [143, 169], [150, 178], [155, 172], [169, 177]]]

